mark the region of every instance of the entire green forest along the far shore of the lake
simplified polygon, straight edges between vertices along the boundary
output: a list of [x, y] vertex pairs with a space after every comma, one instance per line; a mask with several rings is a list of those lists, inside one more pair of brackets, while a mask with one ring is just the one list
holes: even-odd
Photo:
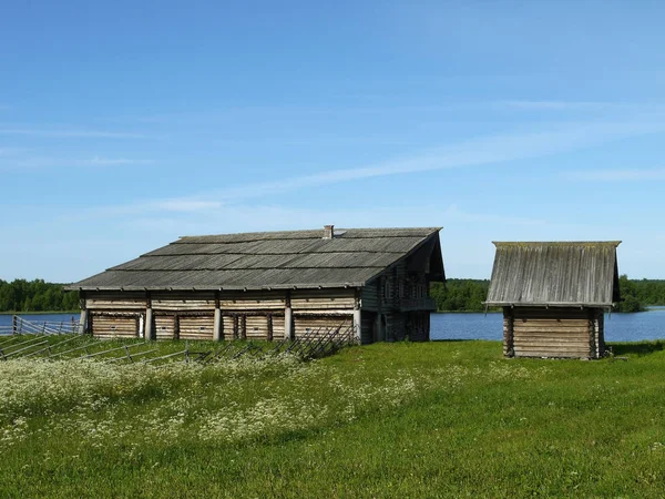
[[[43, 279], [0, 279], [0, 312], [71, 312], [79, 309], [78, 293], [65, 293], [63, 284]], [[432, 283], [430, 294], [439, 312], [484, 312], [488, 279], [448, 279]], [[641, 312], [665, 305], [665, 281], [620, 277], [622, 302], [617, 312]]]

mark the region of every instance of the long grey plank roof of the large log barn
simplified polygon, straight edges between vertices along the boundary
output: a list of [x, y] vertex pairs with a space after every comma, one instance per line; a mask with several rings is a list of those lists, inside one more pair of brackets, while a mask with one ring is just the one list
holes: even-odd
[[423, 244], [443, 278], [440, 227], [336, 228], [181, 237], [70, 289], [265, 289], [362, 286]]

